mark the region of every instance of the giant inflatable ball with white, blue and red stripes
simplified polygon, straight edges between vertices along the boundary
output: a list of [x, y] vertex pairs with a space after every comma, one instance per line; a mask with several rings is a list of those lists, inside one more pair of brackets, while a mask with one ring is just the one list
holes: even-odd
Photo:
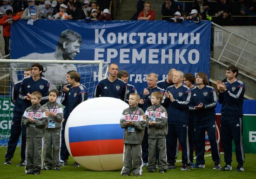
[[70, 113], [65, 128], [67, 150], [81, 166], [111, 171], [123, 166], [123, 132], [119, 124], [128, 104], [120, 99], [88, 99]]

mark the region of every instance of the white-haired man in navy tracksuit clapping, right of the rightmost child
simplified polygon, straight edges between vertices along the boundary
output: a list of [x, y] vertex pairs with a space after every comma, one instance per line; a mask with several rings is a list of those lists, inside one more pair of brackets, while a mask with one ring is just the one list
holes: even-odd
[[[175, 155], [177, 139], [182, 146], [182, 168], [189, 170], [189, 142], [188, 142], [188, 123], [189, 123], [189, 101], [191, 91], [189, 87], [182, 84], [184, 73], [176, 71], [173, 75], [173, 86], [169, 86], [165, 92], [165, 102], [168, 114], [168, 135], [167, 135], [167, 162], [168, 169], [175, 169]], [[169, 143], [168, 143], [169, 141]]]

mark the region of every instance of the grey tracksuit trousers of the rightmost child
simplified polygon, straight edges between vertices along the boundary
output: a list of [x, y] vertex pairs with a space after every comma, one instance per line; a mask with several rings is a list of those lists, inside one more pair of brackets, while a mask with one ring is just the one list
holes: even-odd
[[148, 138], [148, 167], [147, 169], [155, 170], [156, 148], [159, 152], [158, 168], [159, 170], [167, 170], [167, 156], [166, 156], [166, 139], [152, 139]]

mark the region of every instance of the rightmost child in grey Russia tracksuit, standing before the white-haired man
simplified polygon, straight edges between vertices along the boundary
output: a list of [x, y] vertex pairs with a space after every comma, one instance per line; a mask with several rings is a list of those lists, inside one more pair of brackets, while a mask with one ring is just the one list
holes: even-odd
[[159, 152], [158, 167], [160, 173], [167, 171], [166, 135], [168, 133], [168, 122], [166, 109], [161, 106], [162, 93], [151, 94], [151, 104], [146, 110], [146, 121], [148, 125], [148, 172], [155, 172], [156, 148]]

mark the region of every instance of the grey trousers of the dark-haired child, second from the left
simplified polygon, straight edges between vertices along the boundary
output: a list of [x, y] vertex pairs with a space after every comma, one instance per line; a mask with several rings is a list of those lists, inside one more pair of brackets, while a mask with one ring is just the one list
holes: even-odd
[[60, 168], [61, 131], [45, 132], [44, 164], [47, 168]]

